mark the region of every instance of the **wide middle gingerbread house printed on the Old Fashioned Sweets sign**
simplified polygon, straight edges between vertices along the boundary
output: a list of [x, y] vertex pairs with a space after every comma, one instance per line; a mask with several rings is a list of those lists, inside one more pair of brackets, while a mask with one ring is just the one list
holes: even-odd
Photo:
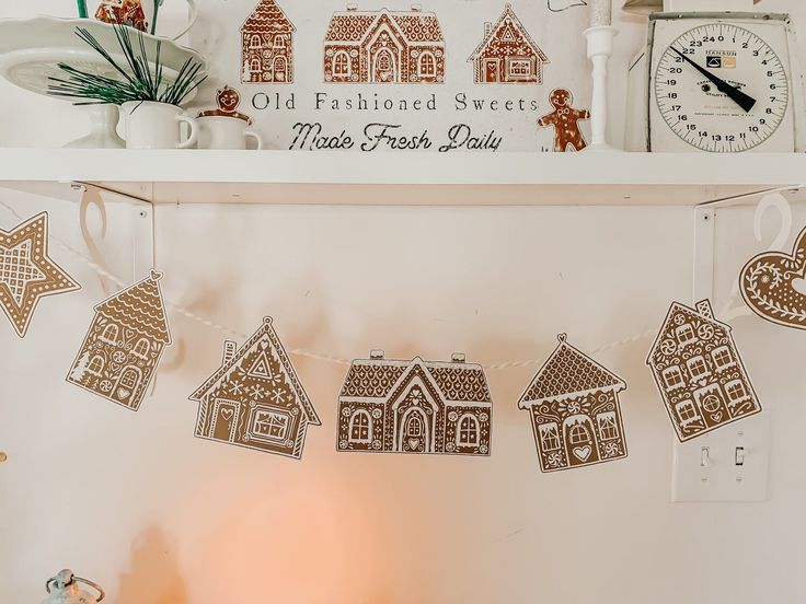
[[445, 81], [445, 38], [435, 13], [346, 12], [331, 19], [324, 40], [324, 79], [346, 83], [438, 83]]

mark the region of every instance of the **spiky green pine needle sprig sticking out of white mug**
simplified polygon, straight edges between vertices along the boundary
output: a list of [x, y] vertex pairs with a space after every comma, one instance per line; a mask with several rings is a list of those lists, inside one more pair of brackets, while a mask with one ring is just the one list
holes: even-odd
[[[125, 25], [114, 25], [115, 36], [126, 59], [122, 67], [85, 28], [77, 27], [76, 35], [94, 49], [116, 71], [120, 78], [108, 78], [91, 71], [77, 69], [67, 63], [58, 63], [64, 78], [50, 77], [47, 92], [53, 96], [77, 98], [76, 105], [113, 104], [123, 105], [129, 101], [152, 101], [180, 105], [196, 90], [207, 76], [199, 78], [203, 63], [188, 58], [180, 68], [175, 80], [164, 77], [160, 60], [162, 42], [157, 40], [154, 58], [149, 60], [142, 32]], [[138, 38], [137, 46], [131, 40], [131, 32]], [[153, 63], [153, 67], [151, 66]]]

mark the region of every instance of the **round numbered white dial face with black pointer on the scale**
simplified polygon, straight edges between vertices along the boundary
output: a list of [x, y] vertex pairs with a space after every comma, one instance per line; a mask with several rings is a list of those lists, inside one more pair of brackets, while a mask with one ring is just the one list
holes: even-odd
[[655, 73], [664, 121], [682, 140], [716, 153], [752, 149], [786, 114], [783, 63], [758, 35], [729, 23], [686, 32], [664, 51]]

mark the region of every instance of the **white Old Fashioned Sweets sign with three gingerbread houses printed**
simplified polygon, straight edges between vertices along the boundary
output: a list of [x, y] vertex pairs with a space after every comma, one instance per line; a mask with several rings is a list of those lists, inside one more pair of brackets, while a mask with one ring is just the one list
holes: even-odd
[[208, 57], [210, 78], [191, 111], [238, 82], [239, 111], [266, 149], [554, 152], [554, 129], [534, 126], [554, 112], [551, 91], [589, 103], [588, 11], [523, 0], [344, 1], [200, 4], [189, 44]]

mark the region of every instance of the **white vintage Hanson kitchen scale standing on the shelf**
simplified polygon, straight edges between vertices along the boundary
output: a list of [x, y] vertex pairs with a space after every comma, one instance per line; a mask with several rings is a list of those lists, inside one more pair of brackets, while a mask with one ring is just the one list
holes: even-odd
[[649, 14], [630, 67], [626, 149], [802, 152], [804, 82], [788, 15], [760, 0], [627, 0]]

